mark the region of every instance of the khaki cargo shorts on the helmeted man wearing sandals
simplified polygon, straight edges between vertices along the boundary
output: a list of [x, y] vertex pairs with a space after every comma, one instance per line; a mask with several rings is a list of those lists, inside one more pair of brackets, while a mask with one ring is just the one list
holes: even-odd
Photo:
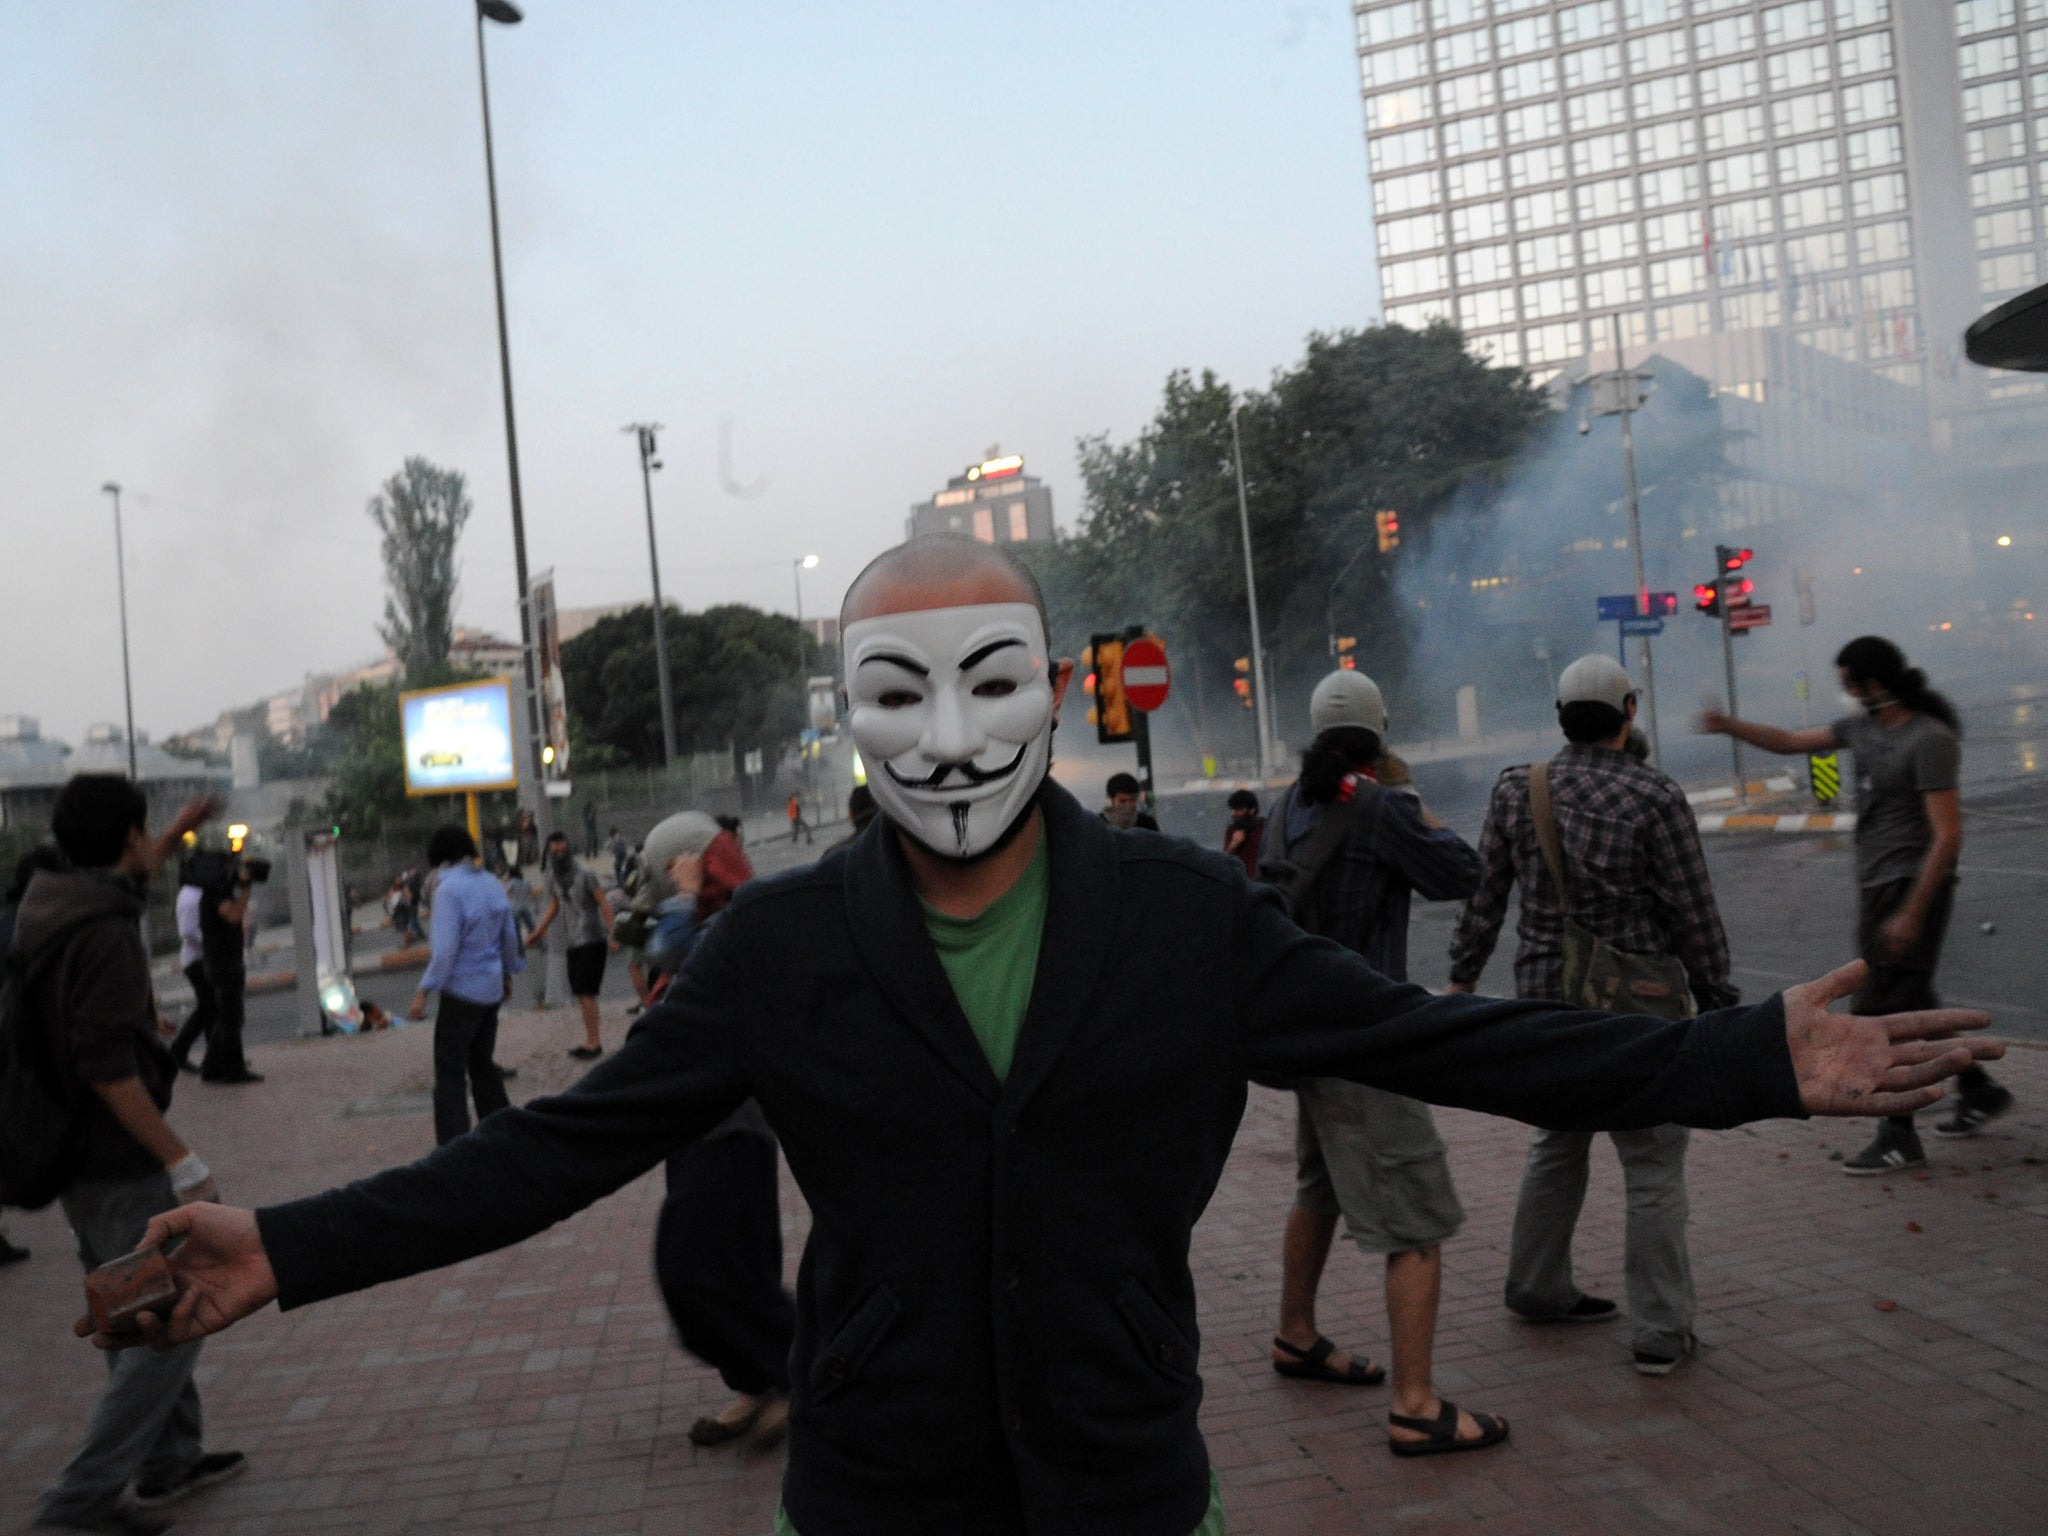
[[1294, 1090], [1294, 1204], [1343, 1217], [1366, 1253], [1436, 1247], [1464, 1225], [1430, 1106], [1341, 1077]]

